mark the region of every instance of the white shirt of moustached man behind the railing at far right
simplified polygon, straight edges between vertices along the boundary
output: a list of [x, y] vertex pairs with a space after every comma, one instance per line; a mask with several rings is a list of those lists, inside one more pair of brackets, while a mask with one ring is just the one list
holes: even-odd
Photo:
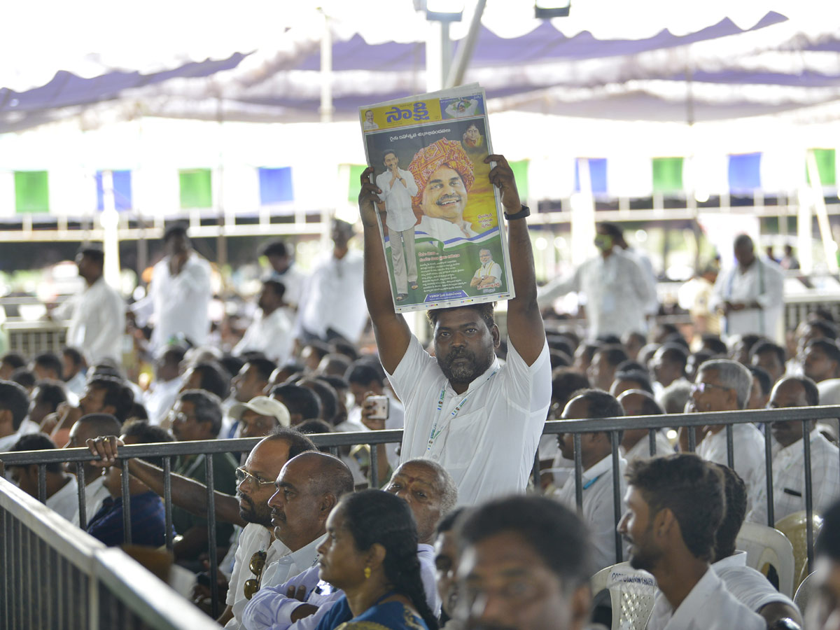
[[[767, 524], [767, 486], [753, 496], [747, 520]], [[840, 461], [837, 447], [811, 431], [811, 497], [814, 512], [824, 512], [840, 499]], [[805, 509], [805, 454], [802, 440], [785, 446], [773, 439], [773, 515], [776, 521]]]

